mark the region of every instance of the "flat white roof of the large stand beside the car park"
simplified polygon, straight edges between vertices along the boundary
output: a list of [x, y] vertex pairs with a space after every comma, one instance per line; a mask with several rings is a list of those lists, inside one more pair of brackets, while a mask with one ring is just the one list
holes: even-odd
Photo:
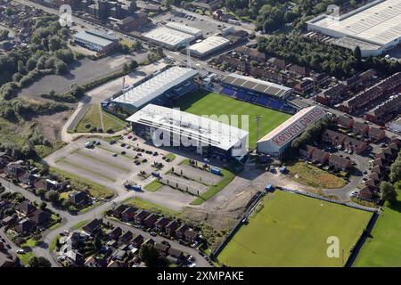
[[[248, 132], [217, 120], [193, 115], [177, 109], [170, 109], [149, 104], [127, 118], [127, 121], [152, 126], [167, 131], [168, 134], [180, 134], [191, 137], [203, 145], [212, 145], [228, 151], [246, 139]], [[181, 136], [180, 136], [181, 137]]]

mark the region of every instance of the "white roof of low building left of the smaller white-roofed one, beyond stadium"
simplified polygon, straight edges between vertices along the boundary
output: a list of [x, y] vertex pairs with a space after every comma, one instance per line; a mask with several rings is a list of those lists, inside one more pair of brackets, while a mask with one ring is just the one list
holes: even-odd
[[190, 34], [166, 27], [152, 29], [150, 32], [144, 34], [143, 37], [171, 46], [185, 45], [187, 42], [195, 39]]

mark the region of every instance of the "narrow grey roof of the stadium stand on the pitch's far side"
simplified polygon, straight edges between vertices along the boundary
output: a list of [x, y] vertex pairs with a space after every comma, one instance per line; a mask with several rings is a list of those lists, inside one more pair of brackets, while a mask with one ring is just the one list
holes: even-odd
[[259, 80], [253, 77], [244, 77], [236, 73], [231, 73], [225, 76], [222, 81], [229, 85], [239, 86], [261, 94], [275, 96], [278, 98], [286, 97], [292, 92], [292, 89], [289, 87]]

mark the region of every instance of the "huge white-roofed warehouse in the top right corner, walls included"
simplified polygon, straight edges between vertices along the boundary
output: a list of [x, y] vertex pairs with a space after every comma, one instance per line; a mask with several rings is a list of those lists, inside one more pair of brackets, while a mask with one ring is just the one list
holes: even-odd
[[377, 0], [340, 17], [323, 14], [307, 22], [309, 30], [338, 37], [338, 45], [360, 46], [363, 56], [377, 56], [398, 45], [400, 27], [401, 0]]

